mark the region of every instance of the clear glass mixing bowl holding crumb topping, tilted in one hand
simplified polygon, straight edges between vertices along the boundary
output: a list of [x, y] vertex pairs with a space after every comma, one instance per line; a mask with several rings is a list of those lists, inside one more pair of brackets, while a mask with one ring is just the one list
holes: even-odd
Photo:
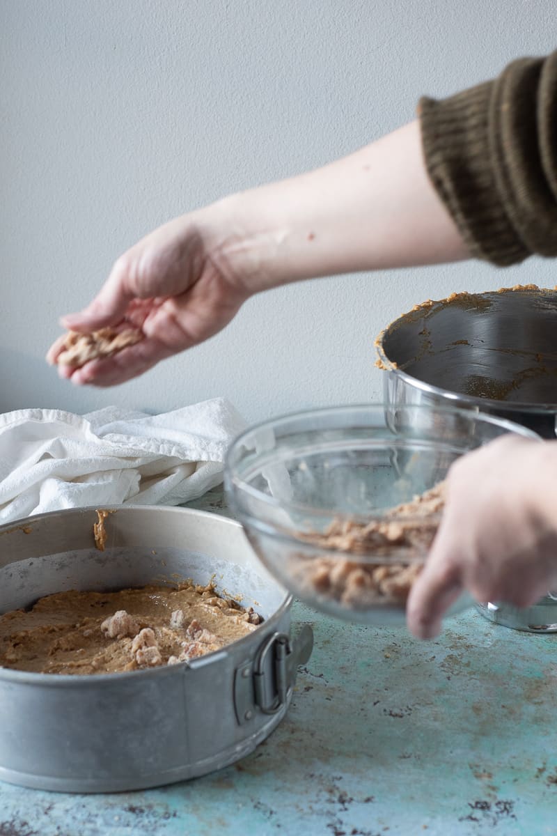
[[[538, 438], [450, 407], [372, 404], [285, 415], [236, 438], [225, 489], [261, 562], [297, 598], [350, 621], [403, 624], [408, 584], [440, 513], [435, 502], [427, 517], [392, 509], [443, 482], [458, 456], [509, 432]], [[413, 536], [401, 536], [405, 529]], [[450, 612], [472, 603], [462, 596]]]

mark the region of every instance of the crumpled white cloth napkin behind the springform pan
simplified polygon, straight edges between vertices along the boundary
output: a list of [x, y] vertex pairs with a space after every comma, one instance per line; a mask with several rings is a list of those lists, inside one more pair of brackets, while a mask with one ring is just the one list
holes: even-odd
[[223, 398], [162, 415], [109, 406], [89, 415], [0, 415], [0, 523], [59, 508], [180, 505], [222, 481], [245, 421]]

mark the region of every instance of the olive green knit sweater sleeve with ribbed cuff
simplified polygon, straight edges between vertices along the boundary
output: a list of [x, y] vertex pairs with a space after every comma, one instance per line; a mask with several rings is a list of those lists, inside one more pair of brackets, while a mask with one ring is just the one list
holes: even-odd
[[473, 256], [557, 256], [557, 52], [418, 112], [428, 174]]

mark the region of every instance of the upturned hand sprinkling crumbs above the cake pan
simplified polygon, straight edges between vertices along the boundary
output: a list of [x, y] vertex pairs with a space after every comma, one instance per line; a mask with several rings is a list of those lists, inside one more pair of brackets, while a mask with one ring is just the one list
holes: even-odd
[[[75, 384], [124, 383], [224, 328], [250, 293], [235, 270], [238, 259], [225, 253], [233, 225], [220, 220], [223, 213], [215, 204], [176, 218], [119, 257], [93, 302], [63, 317], [62, 324], [84, 333], [135, 328], [144, 338], [78, 369], [58, 365], [59, 374]], [[219, 228], [229, 233], [226, 242]], [[57, 362], [63, 339], [49, 349], [48, 362]]]

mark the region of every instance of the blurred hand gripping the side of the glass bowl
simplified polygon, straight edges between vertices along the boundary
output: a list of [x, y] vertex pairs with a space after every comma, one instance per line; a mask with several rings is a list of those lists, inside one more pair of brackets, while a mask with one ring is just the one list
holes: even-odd
[[447, 490], [408, 599], [408, 627], [422, 639], [438, 635], [463, 589], [526, 607], [557, 588], [557, 441], [504, 436], [458, 459]]

